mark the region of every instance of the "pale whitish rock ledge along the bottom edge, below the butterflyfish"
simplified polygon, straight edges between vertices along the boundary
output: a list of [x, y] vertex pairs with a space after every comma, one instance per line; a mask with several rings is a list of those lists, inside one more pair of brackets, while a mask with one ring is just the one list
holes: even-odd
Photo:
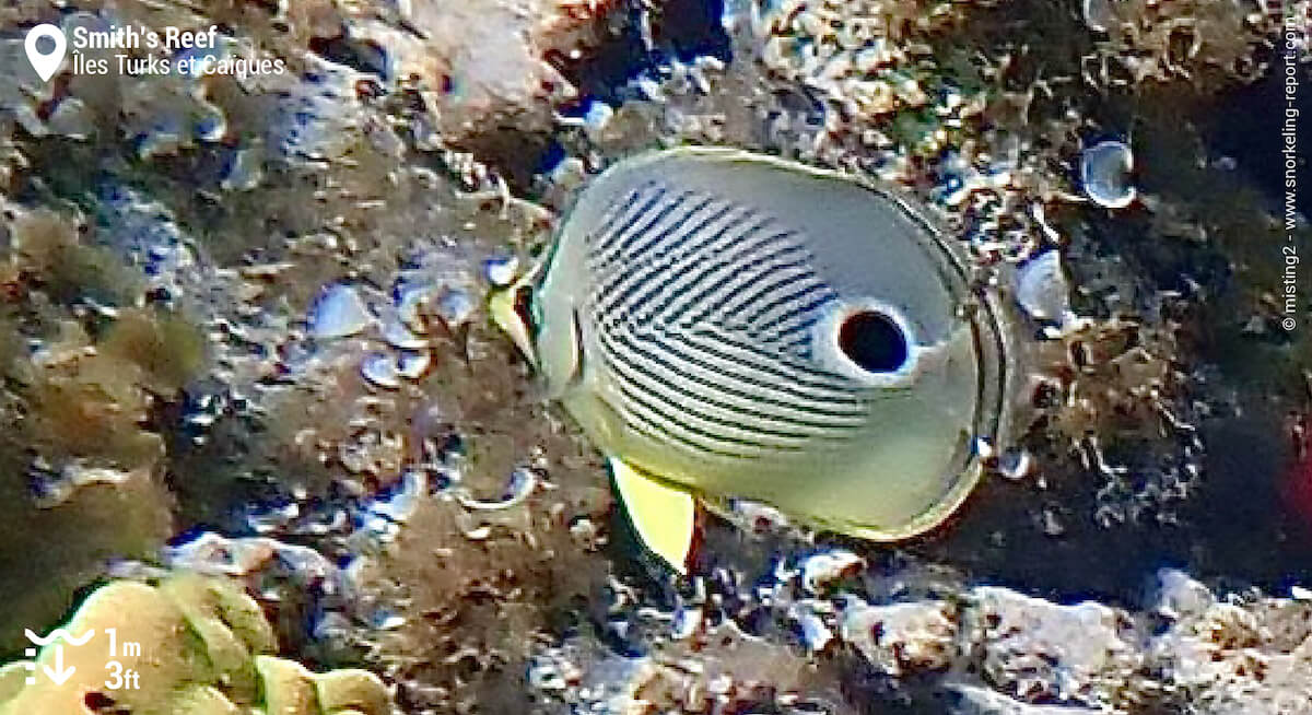
[[[918, 702], [955, 714], [1292, 715], [1312, 702], [1312, 602], [1303, 589], [1295, 598], [1218, 598], [1166, 569], [1144, 610], [1127, 611], [1059, 605], [997, 586], [967, 589], [951, 601], [870, 603], [845, 589], [821, 602], [794, 600], [779, 585], [785, 589], [769, 589], [771, 598], [758, 607], [792, 621], [816, 615], [830, 636], [811, 643], [819, 657], [799, 661], [735, 621], [697, 628], [684, 642], [689, 635], [670, 630], [676, 622], [665, 626], [673, 640], [652, 655], [621, 659], [581, 639], [543, 648], [530, 684], [550, 702], [607, 712], [840, 714]], [[851, 670], [882, 685], [854, 693], [855, 681], [845, 674]], [[942, 690], [928, 694], [926, 678]], [[854, 697], [871, 698], [867, 710]]]

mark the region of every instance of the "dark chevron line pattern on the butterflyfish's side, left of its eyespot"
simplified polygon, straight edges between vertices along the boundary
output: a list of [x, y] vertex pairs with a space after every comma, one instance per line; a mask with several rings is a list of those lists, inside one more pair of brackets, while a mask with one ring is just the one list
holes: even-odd
[[703, 459], [760, 459], [866, 425], [870, 391], [811, 359], [838, 296], [800, 237], [656, 181], [613, 199], [586, 236], [583, 314], [626, 428]]

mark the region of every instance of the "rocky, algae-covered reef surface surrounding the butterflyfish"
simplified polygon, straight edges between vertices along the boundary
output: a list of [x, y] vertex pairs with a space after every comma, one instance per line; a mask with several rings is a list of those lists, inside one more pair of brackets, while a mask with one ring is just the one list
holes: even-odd
[[[1278, 251], [1309, 230], [1244, 136], [1278, 136], [1290, 26], [1312, 87], [1309, 12], [0, 8], [0, 712], [41, 697], [24, 628], [113, 594], [197, 628], [180, 582], [262, 624], [199, 627], [240, 677], [157, 644], [195, 712], [1312, 712], [1312, 316], [1282, 327]], [[42, 81], [39, 22], [220, 42]], [[484, 298], [588, 176], [682, 143], [896, 184], [1025, 314], [1031, 426], [949, 525], [876, 547], [736, 504], [690, 579], [643, 562]]]

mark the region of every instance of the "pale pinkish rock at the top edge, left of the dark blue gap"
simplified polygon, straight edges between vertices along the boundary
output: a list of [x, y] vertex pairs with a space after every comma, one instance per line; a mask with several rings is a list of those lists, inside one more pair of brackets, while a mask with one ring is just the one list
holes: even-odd
[[480, 188], [492, 172], [516, 184], [531, 178], [517, 161], [522, 139], [537, 140], [550, 130], [554, 109], [577, 97], [560, 72], [562, 59], [577, 58], [596, 42], [596, 29], [619, 4], [319, 5], [319, 17], [289, 13], [315, 17], [307, 24], [311, 47], [358, 77], [411, 93], [422, 108], [413, 123], [419, 143], [468, 156], [471, 164], [459, 173]]

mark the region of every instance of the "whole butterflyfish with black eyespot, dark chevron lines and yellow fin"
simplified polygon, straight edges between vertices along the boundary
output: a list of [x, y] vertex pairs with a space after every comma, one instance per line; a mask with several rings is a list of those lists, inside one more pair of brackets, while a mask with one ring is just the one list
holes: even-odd
[[1005, 311], [911, 199], [718, 147], [623, 159], [489, 312], [687, 572], [698, 504], [874, 542], [934, 529], [1006, 438]]

